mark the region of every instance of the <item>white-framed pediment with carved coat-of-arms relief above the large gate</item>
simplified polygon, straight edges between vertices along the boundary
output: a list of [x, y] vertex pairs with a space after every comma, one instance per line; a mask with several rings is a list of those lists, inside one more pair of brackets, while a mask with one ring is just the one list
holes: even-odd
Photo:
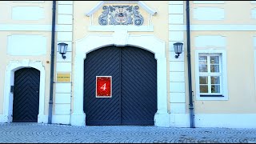
[[86, 16], [90, 31], [153, 31], [151, 17], [156, 14], [142, 1], [102, 1]]

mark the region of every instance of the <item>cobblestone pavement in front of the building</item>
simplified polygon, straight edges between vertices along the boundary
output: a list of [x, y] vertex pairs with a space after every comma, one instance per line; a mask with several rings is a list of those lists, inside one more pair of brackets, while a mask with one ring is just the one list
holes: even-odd
[[256, 129], [0, 123], [1, 143], [256, 143]]

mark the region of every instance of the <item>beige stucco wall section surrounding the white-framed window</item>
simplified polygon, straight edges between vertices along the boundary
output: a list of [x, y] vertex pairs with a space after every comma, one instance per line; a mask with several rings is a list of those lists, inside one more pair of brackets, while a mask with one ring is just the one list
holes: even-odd
[[[256, 92], [254, 86], [255, 32], [210, 31], [191, 33], [192, 86], [194, 79], [194, 37], [197, 35], [222, 35], [226, 37], [228, 101], [197, 101], [195, 113], [255, 113]], [[195, 93], [194, 93], [195, 94]], [[195, 99], [195, 98], [194, 98]]]

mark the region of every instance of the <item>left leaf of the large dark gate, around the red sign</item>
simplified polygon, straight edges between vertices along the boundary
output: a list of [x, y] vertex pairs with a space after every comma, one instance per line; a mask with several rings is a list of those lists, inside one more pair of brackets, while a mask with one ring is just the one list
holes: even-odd
[[[86, 55], [84, 111], [86, 125], [120, 125], [120, 51], [114, 46]], [[112, 97], [96, 98], [96, 76], [112, 76]]]

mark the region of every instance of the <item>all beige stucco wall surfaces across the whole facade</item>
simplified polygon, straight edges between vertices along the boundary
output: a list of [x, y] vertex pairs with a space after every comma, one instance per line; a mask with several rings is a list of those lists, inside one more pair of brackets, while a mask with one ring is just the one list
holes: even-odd
[[[113, 32], [96, 32], [88, 31], [90, 26], [90, 18], [85, 14], [94, 8], [100, 1], [74, 1], [74, 26], [73, 26], [73, 62], [75, 56], [75, 42], [86, 37], [88, 34], [113, 34]], [[128, 32], [129, 34], [154, 34], [156, 38], [166, 42], [166, 62], [167, 62], [167, 94], [168, 105], [170, 100], [169, 90], [169, 44], [168, 44], [168, 1], [143, 1], [147, 6], [158, 12], [152, 16], [152, 24], [154, 32]], [[110, 5], [110, 4], [107, 4]], [[133, 4], [134, 5], [134, 4]], [[17, 21], [11, 19], [12, 6], [41, 6], [44, 7], [44, 19], [38, 21]], [[225, 18], [222, 21], [200, 21], [193, 18], [193, 10], [197, 7], [220, 7], [225, 10]], [[253, 25], [256, 19], [251, 18], [251, 10], [256, 4], [250, 1], [225, 1], [224, 4], [194, 4], [190, 2], [190, 24], [226, 24], [226, 25]], [[32, 2], [0, 2], [0, 24], [46, 24], [51, 25], [52, 2], [32, 3]], [[58, 9], [57, 9], [58, 11]], [[147, 18], [145, 10], [140, 7], [141, 14]], [[94, 24], [98, 25], [98, 15], [102, 13], [100, 8], [94, 14]], [[184, 2], [184, 21], [186, 21], [186, 2]], [[147, 21], [145, 20], [145, 24]], [[145, 25], [144, 24], [144, 25]], [[186, 25], [186, 22], [184, 23]], [[41, 56], [10, 56], [6, 54], [7, 36], [11, 34], [42, 34], [47, 38], [46, 55]], [[194, 38], [198, 35], [223, 35], [226, 36], [226, 53], [227, 53], [227, 82], [228, 82], [228, 101], [198, 101], [194, 97], [195, 113], [255, 113], [256, 112], [256, 90], [254, 82], [254, 46], [253, 37], [255, 31], [191, 31], [191, 62], [192, 62], [192, 90], [195, 92], [194, 78]], [[187, 58], [186, 58], [186, 32], [184, 32], [185, 42], [185, 80], [186, 80], [186, 113], [189, 113], [189, 94], [187, 80]], [[45, 89], [45, 114], [48, 114], [48, 101], [50, 89], [50, 31], [1, 31], [0, 41], [2, 42], [0, 53], [0, 104], [3, 103], [4, 82], [6, 66], [10, 60], [30, 59], [30, 61], [42, 61], [42, 65], [46, 69], [46, 89]], [[74, 66], [73, 66], [74, 71]], [[74, 78], [74, 73], [72, 73]], [[55, 77], [54, 77], [55, 79]], [[72, 82], [74, 82], [72, 80]], [[74, 91], [74, 87], [72, 87]], [[194, 93], [195, 94], [195, 93]], [[73, 102], [71, 103], [73, 105]], [[168, 106], [170, 108], [170, 106]], [[54, 109], [53, 109], [54, 110]], [[2, 106], [0, 106], [0, 114], [2, 114]]]

